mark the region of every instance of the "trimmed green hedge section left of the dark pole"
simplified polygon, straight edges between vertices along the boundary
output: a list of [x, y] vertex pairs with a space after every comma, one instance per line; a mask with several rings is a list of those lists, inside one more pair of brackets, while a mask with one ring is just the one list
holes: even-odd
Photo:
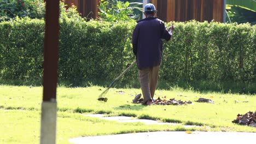
[[0, 25], [1, 78], [35, 79], [42, 75], [44, 21], [16, 19]]

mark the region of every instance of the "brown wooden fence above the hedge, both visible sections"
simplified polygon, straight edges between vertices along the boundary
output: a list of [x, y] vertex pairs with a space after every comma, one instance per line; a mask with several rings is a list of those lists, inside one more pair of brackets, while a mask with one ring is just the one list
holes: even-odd
[[[66, 0], [77, 5], [79, 13], [88, 19], [98, 16], [100, 0]], [[223, 22], [224, 0], [150, 0], [158, 10], [158, 17], [169, 21], [218, 21]]]

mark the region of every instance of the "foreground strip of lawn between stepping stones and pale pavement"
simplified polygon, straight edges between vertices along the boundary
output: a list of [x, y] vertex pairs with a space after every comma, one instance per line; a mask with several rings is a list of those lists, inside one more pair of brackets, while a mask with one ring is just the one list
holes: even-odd
[[[39, 143], [40, 111], [0, 110], [1, 143]], [[80, 113], [57, 113], [57, 143], [69, 143], [79, 136], [139, 133], [146, 131], [187, 130], [182, 125], [146, 125], [143, 123], [118, 123], [91, 118]], [[194, 129], [189, 129], [194, 130]]]

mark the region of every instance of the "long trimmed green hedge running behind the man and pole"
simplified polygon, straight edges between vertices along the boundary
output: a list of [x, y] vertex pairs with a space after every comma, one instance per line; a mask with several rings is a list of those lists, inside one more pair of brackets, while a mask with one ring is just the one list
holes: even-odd
[[[113, 80], [135, 57], [135, 22], [60, 21], [59, 79]], [[167, 23], [170, 26], [171, 23]], [[256, 26], [174, 22], [164, 43], [160, 81], [256, 81]], [[43, 74], [43, 20], [0, 23], [0, 78], [38, 79]], [[123, 77], [137, 80], [133, 67]]]

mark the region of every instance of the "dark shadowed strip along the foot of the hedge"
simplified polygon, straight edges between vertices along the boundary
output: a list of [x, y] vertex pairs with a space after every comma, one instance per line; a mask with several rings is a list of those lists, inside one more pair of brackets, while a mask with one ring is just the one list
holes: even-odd
[[[101, 86], [108, 87], [113, 80], [59, 80], [58, 87], [91, 87]], [[42, 86], [42, 79], [35, 80], [0, 80], [2, 85], [14, 86]], [[235, 81], [166, 81], [159, 78], [158, 89], [181, 89], [183, 91], [198, 91], [201, 93], [220, 92], [220, 93], [240, 93], [240, 94], [256, 94], [256, 83], [253, 81], [248, 82], [235, 82]], [[140, 88], [139, 81], [135, 80], [119, 80], [114, 83], [112, 87], [115, 88]]]

